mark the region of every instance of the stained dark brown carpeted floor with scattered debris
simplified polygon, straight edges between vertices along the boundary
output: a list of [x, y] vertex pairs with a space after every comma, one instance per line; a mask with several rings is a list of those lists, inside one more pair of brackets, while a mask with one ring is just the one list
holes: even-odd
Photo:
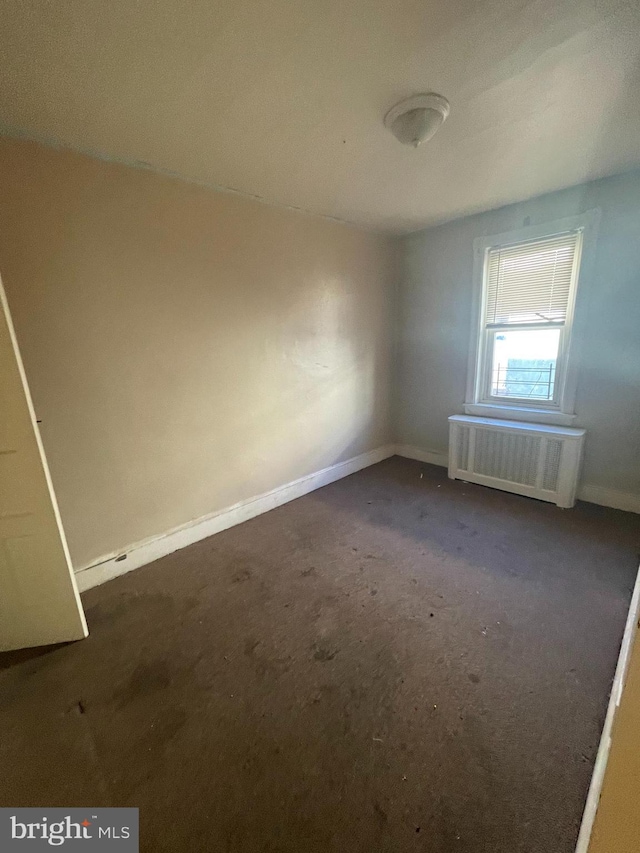
[[150, 853], [571, 853], [638, 544], [382, 462], [4, 656], [0, 804], [139, 806]]

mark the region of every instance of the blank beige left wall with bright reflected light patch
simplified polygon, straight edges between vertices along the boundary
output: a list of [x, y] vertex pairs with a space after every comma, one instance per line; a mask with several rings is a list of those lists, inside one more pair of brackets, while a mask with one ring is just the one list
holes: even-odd
[[76, 567], [389, 440], [386, 239], [24, 141], [0, 185]]

